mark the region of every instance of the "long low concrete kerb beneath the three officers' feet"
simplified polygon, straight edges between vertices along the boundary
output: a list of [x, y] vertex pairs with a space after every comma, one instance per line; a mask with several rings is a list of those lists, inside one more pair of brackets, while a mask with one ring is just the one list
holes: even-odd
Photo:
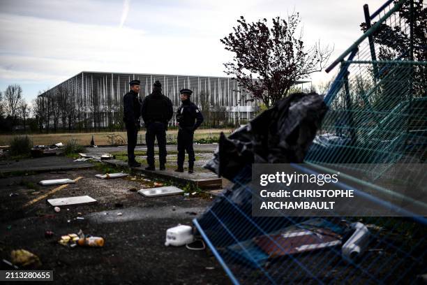
[[[114, 166], [128, 167], [128, 163], [118, 160], [110, 159], [108, 161], [103, 161], [103, 163], [112, 164]], [[218, 178], [217, 175], [213, 173], [176, 173], [174, 170], [145, 170], [144, 167], [135, 167], [133, 170], [143, 173], [149, 177], [154, 177], [163, 180], [172, 180], [179, 184], [194, 184], [200, 189], [221, 189], [223, 185], [223, 180]]]

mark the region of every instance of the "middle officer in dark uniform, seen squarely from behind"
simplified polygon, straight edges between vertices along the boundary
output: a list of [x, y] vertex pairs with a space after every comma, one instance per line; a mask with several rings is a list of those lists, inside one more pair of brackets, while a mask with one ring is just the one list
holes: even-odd
[[144, 98], [141, 108], [142, 119], [144, 120], [147, 133], [147, 170], [155, 170], [154, 167], [154, 139], [157, 138], [158, 158], [160, 170], [165, 170], [166, 163], [166, 130], [167, 124], [174, 115], [172, 101], [162, 94], [160, 81], [154, 82], [153, 93]]

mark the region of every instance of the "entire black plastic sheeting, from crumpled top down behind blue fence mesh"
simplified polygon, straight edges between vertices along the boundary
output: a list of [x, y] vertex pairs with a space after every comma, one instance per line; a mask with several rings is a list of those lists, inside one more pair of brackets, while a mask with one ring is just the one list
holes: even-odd
[[[322, 96], [296, 93], [278, 101], [228, 138], [221, 133], [204, 168], [234, 183], [197, 219], [205, 233], [225, 246], [269, 233], [306, 218], [252, 217], [252, 163], [302, 163], [327, 112]], [[221, 221], [218, 222], [218, 219]], [[262, 229], [260, 228], [262, 225]], [[232, 235], [230, 235], [232, 233]]]

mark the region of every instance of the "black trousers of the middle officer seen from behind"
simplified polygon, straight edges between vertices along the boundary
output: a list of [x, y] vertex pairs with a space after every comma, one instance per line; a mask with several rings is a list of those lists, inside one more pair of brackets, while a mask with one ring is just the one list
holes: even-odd
[[147, 126], [145, 142], [147, 143], [147, 163], [154, 165], [154, 140], [157, 138], [158, 160], [160, 164], [166, 163], [166, 126], [162, 122], [153, 122]]

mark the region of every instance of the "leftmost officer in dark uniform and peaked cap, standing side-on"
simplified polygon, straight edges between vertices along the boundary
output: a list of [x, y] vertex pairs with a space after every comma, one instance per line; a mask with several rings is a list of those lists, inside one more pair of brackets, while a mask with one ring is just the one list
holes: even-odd
[[135, 161], [135, 147], [141, 117], [141, 104], [138, 99], [140, 83], [140, 80], [130, 81], [130, 91], [123, 96], [123, 121], [126, 125], [126, 132], [128, 133], [128, 165], [130, 167], [141, 166], [141, 163]]

